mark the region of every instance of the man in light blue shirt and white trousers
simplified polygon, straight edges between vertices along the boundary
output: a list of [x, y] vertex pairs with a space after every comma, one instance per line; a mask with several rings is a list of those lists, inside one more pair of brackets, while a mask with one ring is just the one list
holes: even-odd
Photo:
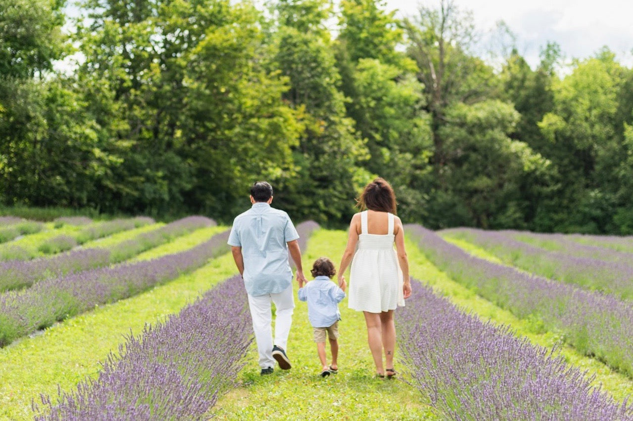
[[[270, 206], [272, 200], [270, 184], [254, 183], [253, 206], [235, 217], [228, 241], [248, 293], [262, 375], [273, 372], [275, 360], [282, 370], [291, 368], [285, 353], [294, 309], [288, 252], [297, 266], [297, 279], [306, 282], [297, 241], [299, 234], [286, 212]], [[271, 302], [276, 308], [274, 342]]]

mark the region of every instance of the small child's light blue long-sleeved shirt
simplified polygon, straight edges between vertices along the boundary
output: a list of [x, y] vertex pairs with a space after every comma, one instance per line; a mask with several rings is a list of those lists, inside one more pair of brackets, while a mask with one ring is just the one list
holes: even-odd
[[317, 276], [299, 288], [299, 300], [308, 302], [308, 319], [312, 327], [330, 327], [341, 320], [339, 306], [345, 293], [327, 276]]

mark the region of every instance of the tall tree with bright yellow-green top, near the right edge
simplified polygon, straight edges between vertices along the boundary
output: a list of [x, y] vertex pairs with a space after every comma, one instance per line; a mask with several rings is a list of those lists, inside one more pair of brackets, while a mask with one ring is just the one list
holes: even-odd
[[604, 53], [577, 63], [570, 75], [553, 84], [553, 110], [539, 122], [552, 145], [548, 157], [560, 172], [557, 205], [567, 210], [556, 215], [557, 230], [605, 232], [617, 206], [613, 169], [623, 152], [613, 126], [619, 66], [613, 54]]

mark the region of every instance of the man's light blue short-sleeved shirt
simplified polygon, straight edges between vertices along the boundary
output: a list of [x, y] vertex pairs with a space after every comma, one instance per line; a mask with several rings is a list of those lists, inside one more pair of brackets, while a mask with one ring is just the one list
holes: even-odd
[[292, 284], [288, 241], [299, 234], [288, 214], [256, 202], [233, 221], [229, 245], [242, 247], [244, 286], [250, 295], [275, 294]]

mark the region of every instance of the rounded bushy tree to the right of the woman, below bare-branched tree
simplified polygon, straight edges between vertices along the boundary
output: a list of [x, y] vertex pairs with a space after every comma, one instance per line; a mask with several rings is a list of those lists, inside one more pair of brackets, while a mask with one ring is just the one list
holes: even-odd
[[527, 226], [522, 193], [547, 188], [550, 163], [526, 143], [508, 137], [517, 111], [501, 101], [484, 101], [459, 103], [446, 113], [451, 123], [439, 133], [454, 151], [445, 174], [449, 198], [468, 218], [455, 222], [484, 228]]

